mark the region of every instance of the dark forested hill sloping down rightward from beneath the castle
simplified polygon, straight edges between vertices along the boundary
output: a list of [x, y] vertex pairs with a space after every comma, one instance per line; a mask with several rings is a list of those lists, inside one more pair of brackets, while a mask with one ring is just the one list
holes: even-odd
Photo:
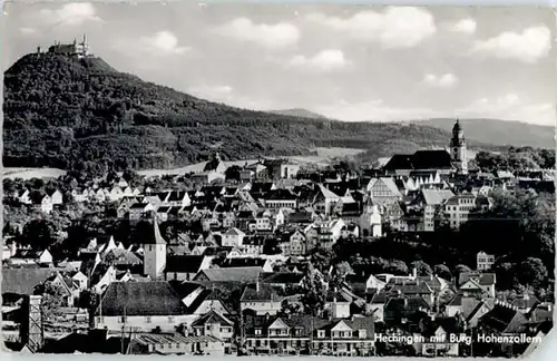
[[315, 146], [369, 149], [370, 157], [446, 146], [428, 126], [341, 123], [209, 103], [113, 69], [100, 58], [30, 53], [4, 74], [3, 164], [117, 169], [303, 155]]

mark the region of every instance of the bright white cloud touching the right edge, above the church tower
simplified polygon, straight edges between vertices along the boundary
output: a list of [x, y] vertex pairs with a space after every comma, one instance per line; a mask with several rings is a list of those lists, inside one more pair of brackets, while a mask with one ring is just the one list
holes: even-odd
[[487, 40], [477, 40], [470, 53], [534, 64], [546, 57], [550, 49], [551, 32], [546, 26], [539, 26], [520, 33], [505, 31]]

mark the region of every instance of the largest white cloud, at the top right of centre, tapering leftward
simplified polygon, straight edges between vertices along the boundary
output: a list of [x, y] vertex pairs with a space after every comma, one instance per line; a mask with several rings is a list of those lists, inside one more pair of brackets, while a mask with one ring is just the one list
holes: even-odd
[[311, 13], [306, 20], [354, 39], [379, 42], [383, 48], [413, 48], [437, 31], [429, 11], [410, 7], [390, 7], [384, 12], [361, 11], [350, 18]]

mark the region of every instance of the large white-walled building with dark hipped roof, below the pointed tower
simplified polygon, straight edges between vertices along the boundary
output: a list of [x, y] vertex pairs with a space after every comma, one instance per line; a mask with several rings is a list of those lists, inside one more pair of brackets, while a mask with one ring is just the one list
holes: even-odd
[[197, 315], [186, 306], [168, 282], [113, 282], [95, 312], [95, 328], [116, 332], [175, 332]]

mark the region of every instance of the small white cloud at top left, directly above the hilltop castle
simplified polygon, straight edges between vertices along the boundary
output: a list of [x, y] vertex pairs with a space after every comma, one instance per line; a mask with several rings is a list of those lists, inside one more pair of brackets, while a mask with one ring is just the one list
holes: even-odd
[[90, 2], [71, 2], [56, 10], [42, 9], [39, 17], [42, 22], [55, 26], [80, 26], [87, 21], [102, 21]]

